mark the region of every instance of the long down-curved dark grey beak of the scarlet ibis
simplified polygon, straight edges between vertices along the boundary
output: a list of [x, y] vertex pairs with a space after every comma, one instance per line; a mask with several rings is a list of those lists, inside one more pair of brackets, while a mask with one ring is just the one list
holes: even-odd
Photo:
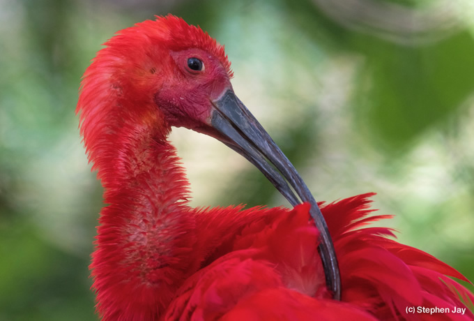
[[214, 106], [211, 126], [220, 133], [217, 139], [254, 164], [291, 205], [295, 206], [300, 202], [311, 204], [310, 214], [320, 233], [319, 253], [326, 274], [326, 285], [335, 299], [340, 299], [339, 267], [334, 245], [321, 210], [305, 182], [232, 89], [227, 89], [220, 98], [211, 100], [211, 103]]

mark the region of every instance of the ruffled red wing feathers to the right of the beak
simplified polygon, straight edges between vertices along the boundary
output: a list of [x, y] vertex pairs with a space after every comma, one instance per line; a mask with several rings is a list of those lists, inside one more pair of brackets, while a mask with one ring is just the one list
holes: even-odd
[[[321, 208], [339, 260], [343, 301], [366, 308], [381, 320], [417, 320], [420, 315], [407, 315], [406, 306], [469, 306], [473, 294], [446, 277], [468, 281], [459, 271], [417, 248], [387, 239], [395, 237], [392, 229], [363, 227], [390, 218], [369, 216], [373, 210], [368, 209], [367, 197], [372, 195], [350, 197]], [[451, 316], [452, 320], [459, 317], [451, 314], [448, 320]], [[466, 310], [463, 318], [471, 320], [473, 313]]]

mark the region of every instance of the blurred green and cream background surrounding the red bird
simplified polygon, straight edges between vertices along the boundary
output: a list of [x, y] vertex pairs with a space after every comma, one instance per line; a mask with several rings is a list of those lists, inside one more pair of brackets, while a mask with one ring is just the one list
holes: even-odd
[[[402, 242], [474, 280], [473, 1], [0, 0], [0, 321], [97, 319], [102, 188], [77, 89], [115, 31], [167, 13], [226, 46], [236, 94], [316, 200], [377, 192]], [[220, 142], [171, 140], [195, 206], [289, 205]]]

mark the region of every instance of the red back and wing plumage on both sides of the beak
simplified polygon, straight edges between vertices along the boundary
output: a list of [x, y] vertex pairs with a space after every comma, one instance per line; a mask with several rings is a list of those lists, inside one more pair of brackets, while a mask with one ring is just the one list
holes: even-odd
[[[432, 255], [367, 223], [369, 196], [323, 205], [339, 259], [342, 301], [328, 299], [309, 206], [201, 209], [196, 212], [201, 269], [188, 278], [165, 320], [432, 320], [407, 306], [464, 307], [474, 296], [447, 276], [467, 281]], [[209, 257], [212, 257], [210, 259]], [[465, 304], [466, 303], [466, 304]], [[443, 314], [439, 320], [472, 320]]]

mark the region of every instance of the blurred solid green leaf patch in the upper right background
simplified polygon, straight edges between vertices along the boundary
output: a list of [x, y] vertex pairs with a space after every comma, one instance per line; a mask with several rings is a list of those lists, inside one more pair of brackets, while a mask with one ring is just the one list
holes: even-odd
[[367, 138], [382, 140], [388, 152], [447, 124], [472, 94], [474, 39], [467, 31], [420, 47], [365, 37], [356, 38], [355, 45], [367, 57], [358, 112], [367, 117]]

